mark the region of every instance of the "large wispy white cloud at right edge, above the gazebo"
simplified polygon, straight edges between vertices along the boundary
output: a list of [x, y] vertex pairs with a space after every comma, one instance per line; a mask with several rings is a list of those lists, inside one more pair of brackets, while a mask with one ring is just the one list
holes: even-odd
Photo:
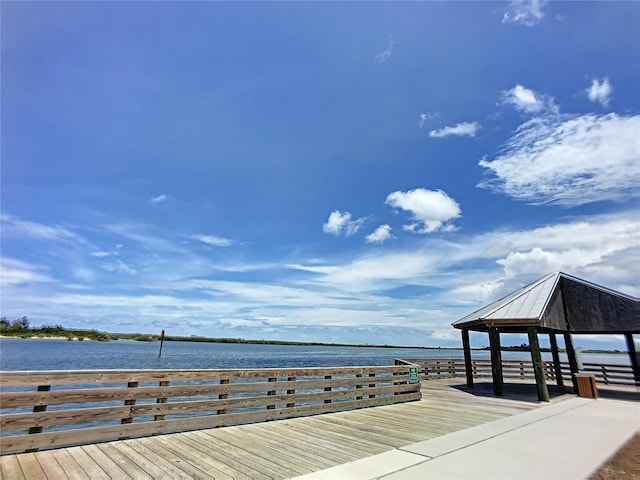
[[640, 115], [535, 118], [499, 157], [479, 165], [478, 186], [534, 204], [582, 205], [640, 195]]

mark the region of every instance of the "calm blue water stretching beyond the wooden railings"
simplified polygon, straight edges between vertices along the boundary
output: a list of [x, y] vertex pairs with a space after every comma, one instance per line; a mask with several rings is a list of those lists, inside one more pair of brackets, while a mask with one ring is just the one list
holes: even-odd
[[[165, 342], [0, 339], [0, 370], [282, 368], [393, 365], [396, 358], [462, 358], [462, 350]], [[473, 358], [489, 358], [474, 351]], [[530, 359], [503, 352], [503, 359]], [[543, 353], [550, 359], [551, 354]], [[584, 354], [585, 362], [629, 364], [627, 355]]]

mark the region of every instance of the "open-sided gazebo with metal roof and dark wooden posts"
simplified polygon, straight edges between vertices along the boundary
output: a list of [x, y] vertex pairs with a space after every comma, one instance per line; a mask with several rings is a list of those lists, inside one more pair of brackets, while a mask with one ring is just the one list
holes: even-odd
[[556, 334], [564, 336], [574, 390], [578, 364], [572, 334], [622, 334], [636, 384], [640, 367], [633, 334], [640, 333], [640, 299], [563, 272], [539, 280], [454, 322], [462, 331], [467, 386], [473, 387], [469, 331], [487, 332], [491, 350], [493, 392], [503, 395], [501, 333], [526, 333], [533, 361], [538, 399], [549, 401], [539, 334], [548, 334], [558, 385], [563, 385]]

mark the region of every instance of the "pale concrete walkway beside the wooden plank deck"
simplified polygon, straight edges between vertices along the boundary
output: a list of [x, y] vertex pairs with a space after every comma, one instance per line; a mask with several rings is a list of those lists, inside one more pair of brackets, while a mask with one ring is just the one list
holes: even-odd
[[639, 431], [639, 403], [576, 397], [297, 480], [584, 479]]

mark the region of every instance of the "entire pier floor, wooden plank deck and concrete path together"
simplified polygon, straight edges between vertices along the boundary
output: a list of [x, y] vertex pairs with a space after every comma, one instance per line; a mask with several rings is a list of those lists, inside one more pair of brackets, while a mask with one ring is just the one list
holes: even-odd
[[[637, 389], [423, 384], [416, 402], [0, 457], [3, 479], [585, 478], [640, 428]], [[612, 397], [613, 398], [613, 397]], [[456, 432], [456, 433], [454, 433]]]

